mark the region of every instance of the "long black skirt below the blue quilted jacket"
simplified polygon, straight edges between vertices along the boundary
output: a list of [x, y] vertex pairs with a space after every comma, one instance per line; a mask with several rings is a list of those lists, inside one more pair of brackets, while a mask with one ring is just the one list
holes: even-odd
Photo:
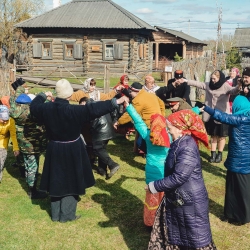
[[227, 171], [224, 215], [235, 222], [250, 222], [250, 174]]

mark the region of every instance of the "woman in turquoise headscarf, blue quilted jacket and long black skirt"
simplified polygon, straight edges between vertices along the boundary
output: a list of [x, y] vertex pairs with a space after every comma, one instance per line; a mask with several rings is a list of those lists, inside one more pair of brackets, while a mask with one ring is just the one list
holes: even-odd
[[204, 111], [216, 121], [229, 125], [224, 216], [229, 222], [250, 222], [250, 102], [237, 96], [233, 114], [205, 106]]

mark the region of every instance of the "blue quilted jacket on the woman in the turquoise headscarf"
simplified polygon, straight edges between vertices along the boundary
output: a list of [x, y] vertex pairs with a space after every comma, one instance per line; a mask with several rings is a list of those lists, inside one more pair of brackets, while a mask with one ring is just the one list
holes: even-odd
[[243, 114], [229, 115], [208, 106], [204, 111], [215, 120], [229, 124], [228, 154], [225, 167], [235, 173], [250, 173], [250, 117]]

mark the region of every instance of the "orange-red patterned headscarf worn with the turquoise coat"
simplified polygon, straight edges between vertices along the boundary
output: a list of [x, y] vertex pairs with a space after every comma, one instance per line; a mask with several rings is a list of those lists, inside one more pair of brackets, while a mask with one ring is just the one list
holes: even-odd
[[170, 147], [166, 118], [162, 115], [155, 114], [150, 118], [150, 141], [157, 146]]

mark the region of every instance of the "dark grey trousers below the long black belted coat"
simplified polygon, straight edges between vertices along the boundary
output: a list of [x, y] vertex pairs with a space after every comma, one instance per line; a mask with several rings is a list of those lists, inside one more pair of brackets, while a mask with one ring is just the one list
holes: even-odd
[[64, 197], [51, 197], [51, 219], [52, 221], [66, 222], [76, 218], [76, 206], [78, 195]]

